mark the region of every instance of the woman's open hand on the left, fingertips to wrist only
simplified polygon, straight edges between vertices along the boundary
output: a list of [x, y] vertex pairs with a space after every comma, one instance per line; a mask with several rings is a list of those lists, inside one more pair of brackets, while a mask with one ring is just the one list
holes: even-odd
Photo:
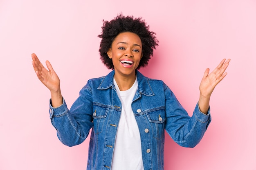
[[32, 54], [32, 65], [36, 72], [38, 79], [50, 90], [57, 91], [60, 87], [60, 79], [58, 78], [56, 72], [53, 70], [52, 65], [49, 61], [46, 61], [48, 70], [39, 61], [36, 54]]

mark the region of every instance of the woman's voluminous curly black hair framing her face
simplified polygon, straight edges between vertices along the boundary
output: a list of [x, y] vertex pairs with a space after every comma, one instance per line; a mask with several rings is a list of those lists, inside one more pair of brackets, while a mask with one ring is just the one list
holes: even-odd
[[133, 16], [124, 16], [122, 13], [117, 15], [111, 21], [103, 20], [102, 33], [98, 35], [101, 38], [99, 46], [99, 54], [101, 61], [106, 65], [108, 69], [114, 69], [112, 59], [108, 57], [108, 50], [111, 48], [112, 42], [117, 35], [124, 32], [135, 33], [139, 36], [142, 43], [142, 54], [137, 69], [148, 65], [148, 61], [153, 56], [153, 50], [158, 46], [158, 40], [155, 37], [155, 33], [149, 31], [149, 26], [146, 25], [145, 20], [141, 17], [134, 18]]

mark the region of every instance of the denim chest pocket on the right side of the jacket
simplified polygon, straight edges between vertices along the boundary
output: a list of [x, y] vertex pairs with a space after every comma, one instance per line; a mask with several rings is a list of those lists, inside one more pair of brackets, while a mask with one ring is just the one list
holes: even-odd
[[162, 139], [164, 137], [164, 127], [166, 121], [165, 109], [158, 108], [146, 113], [148, 121], [150, 122], [150, 128], [153, 132], [153, 137], [156, 139]]

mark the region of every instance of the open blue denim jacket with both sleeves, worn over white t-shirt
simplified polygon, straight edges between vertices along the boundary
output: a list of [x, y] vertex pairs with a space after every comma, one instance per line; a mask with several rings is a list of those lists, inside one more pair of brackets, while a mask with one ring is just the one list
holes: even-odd
[[[50, 103], [50, 118], [63, 144], [81, 144], [92, 128], [87, 170], [111, 169], [122, 109], [113, 85], [114, 74], [113, 70], [107, 76], [90, 79], [70, 110], [64, 99], [57, 108]], [[210, 112], [205, 115], [196, 105], [193, 116], [188, 116], [163, 81], [147, 78], [137, 70], [136, 74], [138, 89], [132, 110], [139, 127], [144, 170], [163, 170], [164, 129], [180, 146], [194, 147], [211, 121]]]

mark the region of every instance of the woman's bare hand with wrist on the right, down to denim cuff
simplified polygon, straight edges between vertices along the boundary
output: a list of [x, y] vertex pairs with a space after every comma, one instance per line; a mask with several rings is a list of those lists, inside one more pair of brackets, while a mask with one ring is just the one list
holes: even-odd
[[209, 109], [210, 97], [213, 92], [213, 89], [222, 81], [222, 79], [227, 75], [225, 70], [229, 65], [230, 59], [225, 62], [226, 59], [223, 59], [220, 64], [217, 66], [213, 72], [209, 74], [209, 68], [204, 72], [204, 76], [200, 83], [200, 97], [198, 100], [198, 106], [202, 113], [207, 114]]

